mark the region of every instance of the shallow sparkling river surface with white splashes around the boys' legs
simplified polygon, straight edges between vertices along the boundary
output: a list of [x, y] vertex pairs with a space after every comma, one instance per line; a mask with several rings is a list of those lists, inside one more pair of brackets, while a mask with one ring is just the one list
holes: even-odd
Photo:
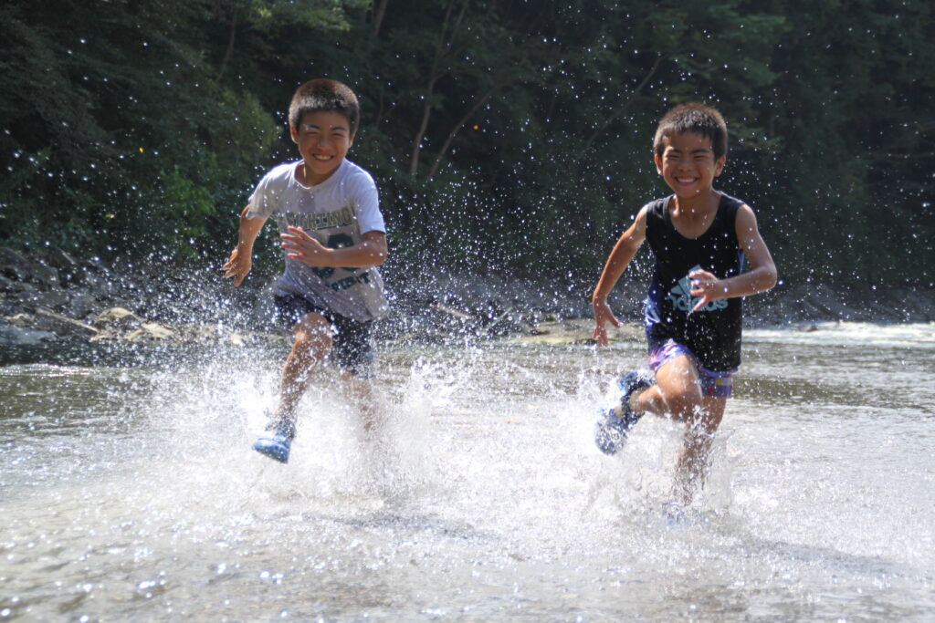
[[382, 346], [378, 438], [324, 372], [288, 465], [281, 348], [3, 347], [0, 621], [935, 620], [935, 325], [816, 329], [745, 333], [676, 515], [676, 425], [592, 441], [636, 338]]

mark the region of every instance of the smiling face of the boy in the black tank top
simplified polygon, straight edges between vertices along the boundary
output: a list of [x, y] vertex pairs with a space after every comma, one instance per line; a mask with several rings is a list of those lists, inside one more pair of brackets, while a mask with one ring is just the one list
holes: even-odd
[[714, 159], [711, 138], [694, 132], [673, 134], [662, 139], [662, 148], [655, 155], [655, 168], [677, 197], [691, 199], [712, 191], [726, 156]]

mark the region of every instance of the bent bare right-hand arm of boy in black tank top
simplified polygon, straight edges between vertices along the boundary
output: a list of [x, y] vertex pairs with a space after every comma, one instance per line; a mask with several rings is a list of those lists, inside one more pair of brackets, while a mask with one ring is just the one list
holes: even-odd
[[756, 216], [749, 205], [741, 205], [737, 211], [736, 231], [741, 249], [750, 262], [750, 270], [729, 279], [718, 279], [707, 271], [695, 271], [689, 275], [692, 296], [701, 297], [695, 305], [696, 310], [711, 301], [758, 294], [776, 285], [776, 264], [756, 227]]

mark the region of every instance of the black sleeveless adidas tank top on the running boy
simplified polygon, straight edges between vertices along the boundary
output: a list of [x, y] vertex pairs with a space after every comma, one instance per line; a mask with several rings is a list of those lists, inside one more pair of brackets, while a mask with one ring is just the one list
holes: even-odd
[[698, 298], [689, 294], [688, 274], [698, 267], [722, 279], [741, 273], [736, 220], [743, 202], [722, 193], [711, 227], [693, 239], [675, 230], [669, 199], [656, 199], [646, 210], [646, 239], [655, 256], [644, 306], [650, 350], [672, 339], [688, 347], [704, 367], [732, 370], [741, 364], [741, 298], [712, 301], [692, 312]]

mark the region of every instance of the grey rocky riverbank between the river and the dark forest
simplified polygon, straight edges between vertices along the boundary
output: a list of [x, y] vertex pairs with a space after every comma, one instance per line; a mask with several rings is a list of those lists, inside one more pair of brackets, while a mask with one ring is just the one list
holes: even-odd
[[[282, 333], [269, 330], [272, 280], [252, 276], [235, 289], [218, 270], [86, 260], [59, 248], [29, 256], [0, 248], [0, 344], [281, 341]], [[391, 272], [387, 282], [393, 311], [380, 323], [382, 339], [590, 338], [589, 323], [580, 320], [590, 317], [589, 286], [451, 273], [406, 282]], [[611, 305], [620, 319], [639, 321], [642, 288], [622, 284], [614, 292]], [[935, 290], [782, 285], [749, 299], [746, 316], [751, 325], [806, 329], [827, 320], [931, 322]]]

